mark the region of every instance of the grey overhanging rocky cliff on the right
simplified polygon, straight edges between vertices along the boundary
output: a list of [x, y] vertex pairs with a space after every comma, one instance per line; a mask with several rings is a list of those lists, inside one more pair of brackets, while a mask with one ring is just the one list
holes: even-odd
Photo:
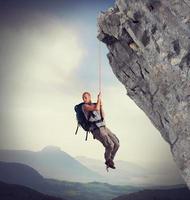
[[114, 74], [169, 143], [190, 188], [190, 0], [117, 0], [98, 27]]

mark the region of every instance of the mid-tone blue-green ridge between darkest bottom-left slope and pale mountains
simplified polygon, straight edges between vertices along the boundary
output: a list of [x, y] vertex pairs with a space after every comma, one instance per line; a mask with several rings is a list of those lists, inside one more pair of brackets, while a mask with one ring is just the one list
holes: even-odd
[[0, 181], [27, 186], [38, 192], [69, 200], [111, 200], [119, 195], [141, 189], [99, 182], [77, 183], [47, 179], [25, 164], [2, 161]]

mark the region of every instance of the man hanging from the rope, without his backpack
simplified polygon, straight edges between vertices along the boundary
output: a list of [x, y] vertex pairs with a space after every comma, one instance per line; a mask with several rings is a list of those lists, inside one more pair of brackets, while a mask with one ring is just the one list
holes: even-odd
[[112, 133], [105, 124], [104, 112], [102, 109], [101, 93], [98, 94], [97, 102], [91, 102], [91, 94], [84, 92], [82, 94], [84, 104], [82, 110], [86, 119], [91, 122], [90, 131], [95, 139], [99, 140], [105, 147], [105, 164], [108, 167], [115, 169], [114, 157], [119, 148], [119, 139]]

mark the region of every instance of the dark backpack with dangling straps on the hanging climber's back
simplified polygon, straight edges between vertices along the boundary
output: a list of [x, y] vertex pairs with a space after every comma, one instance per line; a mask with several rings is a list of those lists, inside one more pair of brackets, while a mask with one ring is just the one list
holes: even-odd
[[[79, 126], [81, 126], [85, 131], [86, 131], [86, 139], [85, 140], [87, 140], [87, 138], [88, 138], [88, 133], [90, 132], [90, 127], [91, 127], [91, 122], [90, 121], [88, 121], [87, 119], [86, 119], [86, 117], [85, 117], [85, 115], [84, 115], [84, 112], [83, 112], [83, 110], [82, 110], [82, 105], [83, 105], [84, 103], [82, 102], [82, 103], [80, 103], [80, 104], [77, 104], [77, 105], [75, 105], [75, 107], [74, 107], [74, 110], [75, 110], [75, 112], [76, 112], [76, 119], [77, 119], [77, 122], [78, 122], [78, 124], [77, 124], [77, 129], [76, 129], [76, 131], [75, 131], [75, 135], [77, 134], [77, 132], [78, 132], [78, 128], [79, 128]], [[92, 115], [92, 112], [90, 112], [90, 114], [89, 114], [89, 118], [90, 118], [90, 116]]]

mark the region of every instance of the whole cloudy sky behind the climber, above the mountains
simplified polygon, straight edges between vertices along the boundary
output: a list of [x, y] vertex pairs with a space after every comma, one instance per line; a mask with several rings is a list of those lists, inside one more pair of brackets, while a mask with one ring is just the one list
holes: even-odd
[[[97, 16], [113, 0], [0, 0], [0, 148], [60, 147], [103, 159], [103, 145], [77, 126], [74, 106], [98, 94]], [[168, 144], [126, 95], [101, 44], [106, 125], [120, 140], [116, 159], [175, 167]]]

